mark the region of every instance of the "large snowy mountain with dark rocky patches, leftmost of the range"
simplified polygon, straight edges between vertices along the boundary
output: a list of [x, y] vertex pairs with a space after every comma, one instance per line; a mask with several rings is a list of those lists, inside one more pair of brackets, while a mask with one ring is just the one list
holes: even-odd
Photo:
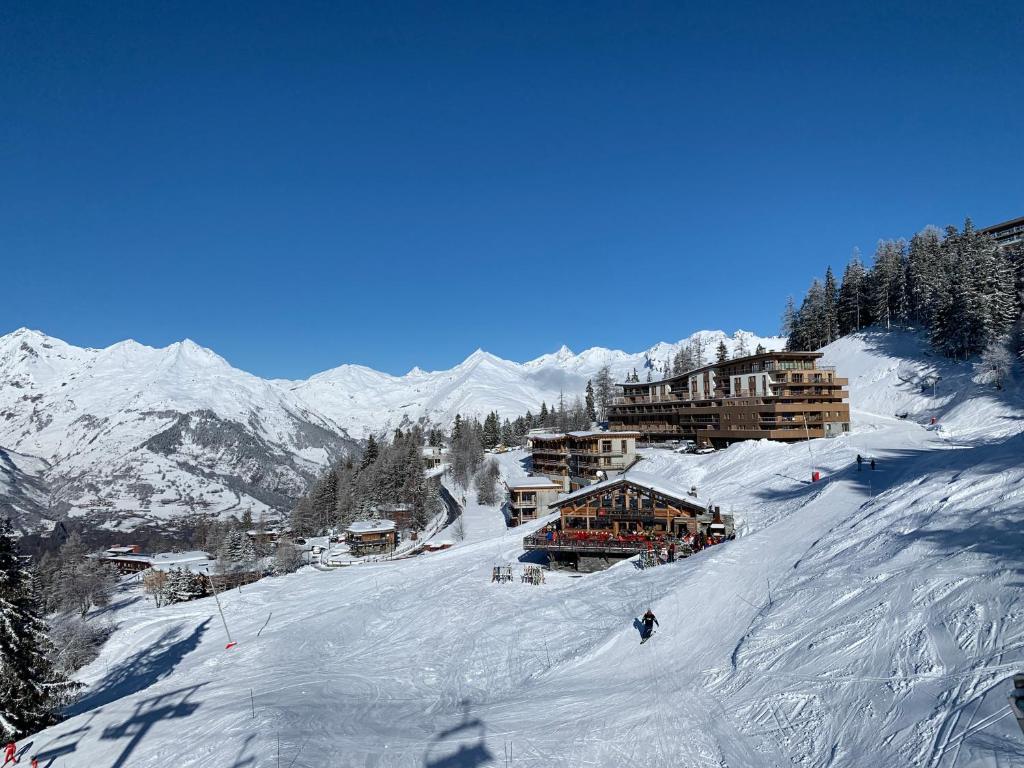
[[194, 513], [274, 516], [357, 447], [281, 387], [190, 341], [81, 349], [0, 337], [0, 511], [23, 529], [65, 516], [131, 528]]

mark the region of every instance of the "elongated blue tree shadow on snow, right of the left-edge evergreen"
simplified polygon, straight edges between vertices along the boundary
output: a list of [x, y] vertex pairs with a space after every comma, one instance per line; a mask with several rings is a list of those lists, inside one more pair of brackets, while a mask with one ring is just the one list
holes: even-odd
[[71, 705], [66, 715], [81, 715], [148, 688], [164, 679], [182, 658], [196, 649], [208, 624], [209, 618], [196, 627], [187, 637], [180, 639], [182, 625], [168, 629], [148, 648], [137, 651], [114, 667], [97, 686]]

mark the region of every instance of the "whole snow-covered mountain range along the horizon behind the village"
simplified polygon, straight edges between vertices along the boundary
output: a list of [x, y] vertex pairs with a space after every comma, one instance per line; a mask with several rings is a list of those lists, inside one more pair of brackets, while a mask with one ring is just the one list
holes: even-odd
[[0, 512], [23, 529], [66, 515], [131, 528], [196, 512], [286, 511], [316, 472], [371, 432], [456, 413], [515, 417], [582, 393], [602, 366], [657, 378], [680, 345], [730, 352], [784, 340], [705, 331], [630, 354], [562, 347], [528, 362], [482, 350], [449, 371], [391, 376], [341, 366], [265, 380], [191, 341], [76, 347], [37, 331], [0, 337]]

